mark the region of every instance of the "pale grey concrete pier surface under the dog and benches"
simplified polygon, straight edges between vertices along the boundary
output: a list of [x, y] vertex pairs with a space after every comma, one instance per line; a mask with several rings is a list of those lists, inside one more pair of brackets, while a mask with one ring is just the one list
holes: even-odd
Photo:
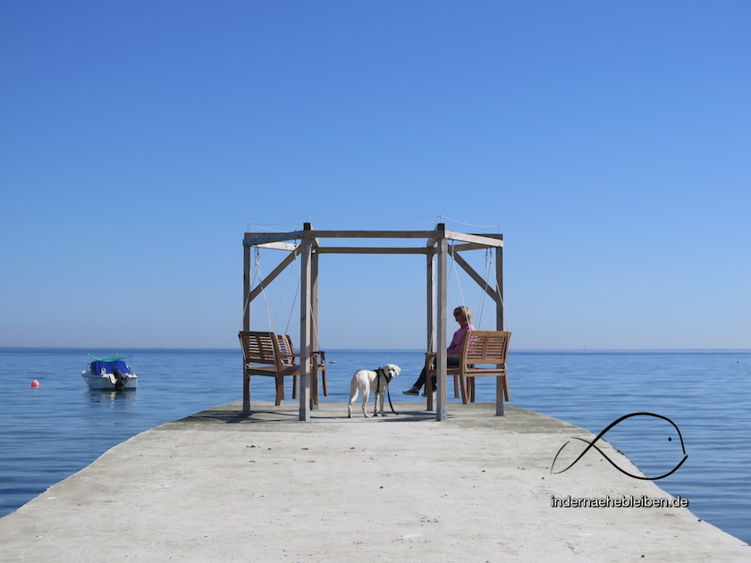
[[140, 433], [0, 518], [0, 560], [751, 560], [690, 506], [654, 508], [674, 502], [659, 482], [596, 450], [552, 474], [566, 441], [594, 435], [528, 410], [450, 404], [439, 423], [424, 403], [348, 419], [325, 402], [301, 423], [294, 401], [240, 407]]

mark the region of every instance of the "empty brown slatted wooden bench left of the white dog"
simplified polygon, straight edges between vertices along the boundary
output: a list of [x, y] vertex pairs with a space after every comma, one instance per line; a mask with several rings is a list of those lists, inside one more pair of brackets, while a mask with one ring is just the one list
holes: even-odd
[[[242, 400], [250, 403], [250, 376], [266, 375], [276, 380], [276, 401], [278, 407], [284, 399], [284, 377], [292, 377], [292, 399], [297, 398], [298, 375], [300, 375], [300, 354], [295, 353], [292, 340], [286, 334], [274, 332], [241, 331], [242, 348]], [[311, 396], [313, 404], [318, 404], [318, 372], [321, 374], [324, 396], [328, 396], [326, 382], [325, 352], [316, 350], [310, 355]]]

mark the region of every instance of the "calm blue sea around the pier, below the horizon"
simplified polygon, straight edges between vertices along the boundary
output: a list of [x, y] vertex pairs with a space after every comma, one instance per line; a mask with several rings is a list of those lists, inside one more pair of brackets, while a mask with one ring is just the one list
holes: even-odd
[[[88, 352], [132, 354], [138, 391], [88, 391], [80, 377]], [[400, 391], [422, 363], [417, 350], [328, 350], [326, 357], [325, 400], [342, 402], [356, 369], [386, 363], [402, 368], [392, 400], [409, 400]], [[40, 382], [38, 389], [30, 387], [32, 380]], [[668, 417], [680, 430], [688, 460], [656, 483], [688, 499], [697, 517], [751, 542], [751, 350], [512, 350], [510, 387], [511, 405], [593, 433], [630, 413]], [[239, 401], [240, 353], [0, 349], [0, 389], [2, 517], [136, 433]], [[274, 399], [271, 380], [254, 380], [253, 398]], [[477, 400], [494, 400], [494, 382], [477, 383]], [[646, 439], [648, 429], [620, 426], [605, 439], [646, 475], [665, 473], [664, 459]]]

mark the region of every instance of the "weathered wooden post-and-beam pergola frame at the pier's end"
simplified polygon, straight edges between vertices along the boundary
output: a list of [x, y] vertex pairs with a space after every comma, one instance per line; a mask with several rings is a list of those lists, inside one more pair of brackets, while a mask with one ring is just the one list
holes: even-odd
[[[323, 239], [425, 239], [422, 247], [325, 247]], [[449, 241], [454, 244], [449, 245]], [[243, 319], [242, 330], [250, 330], [250, 303], [274, 279], [291, 265], [297, 256], [300, 263], [300, 420], [310, 420], [311, 404], [309, 359], [311, 352], [318, 349], [318, 256], [322, 254], [418, 254], [426, 256], [426, 304], [427, 304], [427, 346], [428, 351], [436, 352], [437, 407], [436, 420], [448, 418], [446, 409], [446, 348], [448, 347], [446, 322], [448, 299], [448, 256], [469, 274], [474, 281], [493, 298], [495, 302], [495, 327], [503, 330], [503, 235], [468, 234], [446, 231], [444, 223], [438, 223], [435, 231], [315, 231], [310, 223], [304, 223], [302, 231], [292, 232], [246, 232], [243, 247]], [[251, 285], [251, 252], [253, 248], [275, 248], [290, 254], [269, 273]], [[460, 256], [464, 250], [481, 248], [495, 249], [496, 286], [490, 287], [467, 261]], [[437, 259], [437, 268], [434, 267]], [[434, 315], [434, 311], [437, 315]], [[434, 325], [435, 316], [435, 325]], [[271, 328], [271, 327], [270, 327]], [[437, 330], [436, 330], [437, 329]], [[435, 350], [433, 333], [436, 332]], [[427, 398], [427, 408], [433, 408], [433, 398]], [[250, 414], [250, 401], [243, 399], [243, 414]], [[500, 380], [496, 385], [495, 414], [503, 416], [503, 391]]]

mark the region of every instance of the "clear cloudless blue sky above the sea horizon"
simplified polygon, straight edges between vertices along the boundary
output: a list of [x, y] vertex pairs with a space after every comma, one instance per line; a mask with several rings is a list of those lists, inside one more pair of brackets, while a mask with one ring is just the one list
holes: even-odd
[[[751, 348], [750, 21], [730, 0], [5, 2], [0, 346], [232, 348], [244, 231], [442, 221], [504, 234], [516, 348]], [[322, 347], [422, 347], [423, 270], [322, 258]], [[285, 299], [257, 328], [296, 334]]]

